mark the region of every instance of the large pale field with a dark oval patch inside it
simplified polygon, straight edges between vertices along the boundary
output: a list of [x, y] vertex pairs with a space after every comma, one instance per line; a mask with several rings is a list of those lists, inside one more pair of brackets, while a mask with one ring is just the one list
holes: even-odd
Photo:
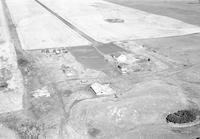
[[[200, 28], [102, 0], [40, 0], [61, 17], [100, 42], [197, 33]], [[107, 22], [120, 19], [123, 22]]]

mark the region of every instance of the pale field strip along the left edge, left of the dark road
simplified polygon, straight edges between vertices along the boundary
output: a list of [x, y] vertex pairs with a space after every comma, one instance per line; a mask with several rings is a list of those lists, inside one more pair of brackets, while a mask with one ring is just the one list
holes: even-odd
[[17, 65], [13, 44], [9, 42], [6, 21], [0, 3], [0, 113], [21, 110], [24, 94], [23, 78]]

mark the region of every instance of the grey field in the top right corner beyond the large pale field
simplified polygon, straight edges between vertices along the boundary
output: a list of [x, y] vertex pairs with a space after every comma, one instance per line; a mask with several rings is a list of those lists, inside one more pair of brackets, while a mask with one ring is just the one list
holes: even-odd
[[185, 23], [200, 25], [200, 3], [193, 0], [164, 1], [164, 0], [107, 0], [119, 5], [138, 9], [152, 14], [171, 17]]

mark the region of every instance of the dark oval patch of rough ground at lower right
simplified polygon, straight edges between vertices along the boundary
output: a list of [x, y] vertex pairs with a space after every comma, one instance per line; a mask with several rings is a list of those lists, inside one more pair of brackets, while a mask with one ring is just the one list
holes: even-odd
[[189, 123], [196, 120], [197, 114], [194, 110], [180, 110], [166, 117], [167, 123]]

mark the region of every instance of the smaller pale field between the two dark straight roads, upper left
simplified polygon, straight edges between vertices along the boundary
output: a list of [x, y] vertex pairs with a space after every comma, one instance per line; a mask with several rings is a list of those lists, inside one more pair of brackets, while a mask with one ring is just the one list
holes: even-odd
[[33, 0], [6, 0], [24, 50], [89, 45]]

